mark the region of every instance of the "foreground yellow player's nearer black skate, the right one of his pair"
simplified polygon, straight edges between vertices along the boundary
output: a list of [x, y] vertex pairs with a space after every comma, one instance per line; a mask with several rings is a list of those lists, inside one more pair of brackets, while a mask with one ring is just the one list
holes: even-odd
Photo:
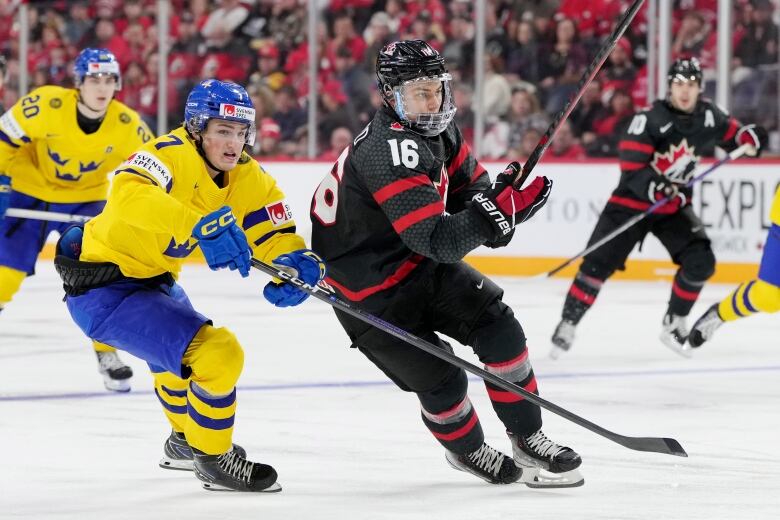
[[206, 455], [195, 450], [195, 476], [211, 491], [275, 493], [282, 490], [276, 470], [268, 464], [246, 460], [238, 450], [222, 455]]

